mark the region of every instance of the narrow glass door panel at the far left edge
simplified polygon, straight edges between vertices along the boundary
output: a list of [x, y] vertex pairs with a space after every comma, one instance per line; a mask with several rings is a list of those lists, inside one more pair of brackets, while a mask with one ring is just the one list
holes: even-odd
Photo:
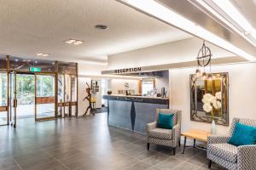
[[7, 72], [0, 72], [0, 125], [6, 125], [9, 123], [7, 77]]

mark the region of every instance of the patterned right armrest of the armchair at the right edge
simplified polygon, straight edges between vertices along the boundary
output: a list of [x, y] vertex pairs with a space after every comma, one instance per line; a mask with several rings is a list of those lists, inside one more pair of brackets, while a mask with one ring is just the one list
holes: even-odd
[[237, 167], [256, 169], [256, 144], [238, 146]]

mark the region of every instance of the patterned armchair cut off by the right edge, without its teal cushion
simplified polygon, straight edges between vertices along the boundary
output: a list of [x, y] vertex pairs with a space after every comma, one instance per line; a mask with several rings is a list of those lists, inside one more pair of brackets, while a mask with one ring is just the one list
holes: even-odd
[[228, 144], [236, 122], [256, 127], [256, 120], [234, 118], [227, 136], [209, 136], [207, 139], [207, 158], [209, 168], [212, 161], [229, 170], [256, 169], [256, 144], [235, 146]]

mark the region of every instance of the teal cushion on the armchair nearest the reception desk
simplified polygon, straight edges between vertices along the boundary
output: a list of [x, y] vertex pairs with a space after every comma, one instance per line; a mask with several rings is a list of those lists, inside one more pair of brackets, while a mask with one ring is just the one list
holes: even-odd
[[160, 112], [158, 115], [157, 127], [172, 129], [172, 126], [173, 126], [172, 118], [173, 118], [173, 114], [163, 114]]

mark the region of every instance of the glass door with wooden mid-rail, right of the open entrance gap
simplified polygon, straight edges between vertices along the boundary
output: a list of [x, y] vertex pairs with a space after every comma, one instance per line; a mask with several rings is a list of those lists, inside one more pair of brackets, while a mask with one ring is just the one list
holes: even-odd
[[35, 119], [55, 118], [55, 75], [36, 73]]

